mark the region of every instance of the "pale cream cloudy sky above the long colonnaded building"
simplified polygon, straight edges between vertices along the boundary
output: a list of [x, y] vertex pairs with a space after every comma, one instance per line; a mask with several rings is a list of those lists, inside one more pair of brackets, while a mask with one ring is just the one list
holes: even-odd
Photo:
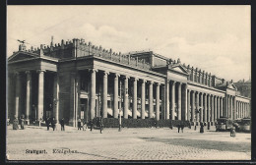
[[8, 6], [7, 57], [61, 39], [114, 52], [154, 51], [226, 81], [251, 75], [251, 8], [232, 6]]

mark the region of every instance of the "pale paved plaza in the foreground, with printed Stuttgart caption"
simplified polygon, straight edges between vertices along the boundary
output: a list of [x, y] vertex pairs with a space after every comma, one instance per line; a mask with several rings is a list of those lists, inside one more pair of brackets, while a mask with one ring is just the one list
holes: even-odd
[[[7, 128], [9, 160], [250, 160], [251, 135], [177, 128], [123, 128], [90, 132], [66, 127]], [[36, 154], [36, 151], [38, 154]]]

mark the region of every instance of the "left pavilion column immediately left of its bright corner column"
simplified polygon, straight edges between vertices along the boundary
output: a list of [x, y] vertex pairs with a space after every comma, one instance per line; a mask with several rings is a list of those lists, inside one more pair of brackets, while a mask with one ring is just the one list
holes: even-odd
[[28, 125], [30, 125], [30, 115], [31, 115], [31, 107], [32, 107], [32, 73], [30, 71], [26, 71], [27, 75], [27, 97], [26, 97], [26, 120]]

